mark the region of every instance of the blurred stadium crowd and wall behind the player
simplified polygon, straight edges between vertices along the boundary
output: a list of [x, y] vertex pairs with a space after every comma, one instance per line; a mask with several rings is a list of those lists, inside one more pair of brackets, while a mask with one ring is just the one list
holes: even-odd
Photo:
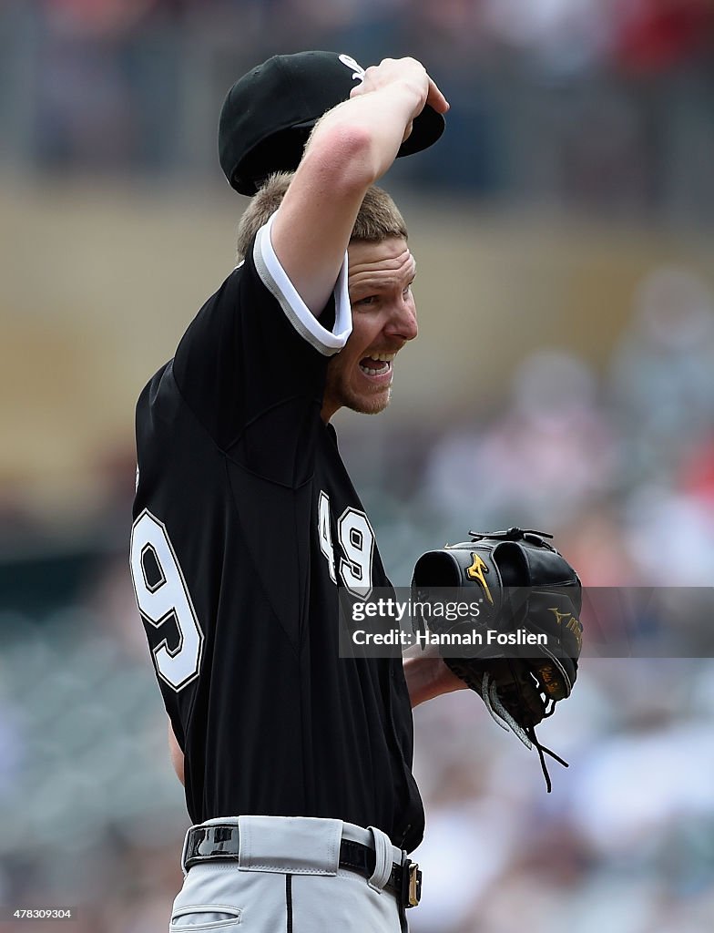
[[[520, 524], [589, 586], [711, 585], [710, 0], [2, 0], [8, 930], [167, 927], [187, 820], [130, 588], [132, 410], [232, 268], [223, 96], [309, 48], [414, 54], [452, 104], [385, 179], [421, 338], [388, 412], [336, 421], [393, 582]], [[542, 728], [570, 761], [546, 795], [473, 696], [419, 707], [415, 933], [708, 931], [712, 714], [709, 657], [590, 657]]]

